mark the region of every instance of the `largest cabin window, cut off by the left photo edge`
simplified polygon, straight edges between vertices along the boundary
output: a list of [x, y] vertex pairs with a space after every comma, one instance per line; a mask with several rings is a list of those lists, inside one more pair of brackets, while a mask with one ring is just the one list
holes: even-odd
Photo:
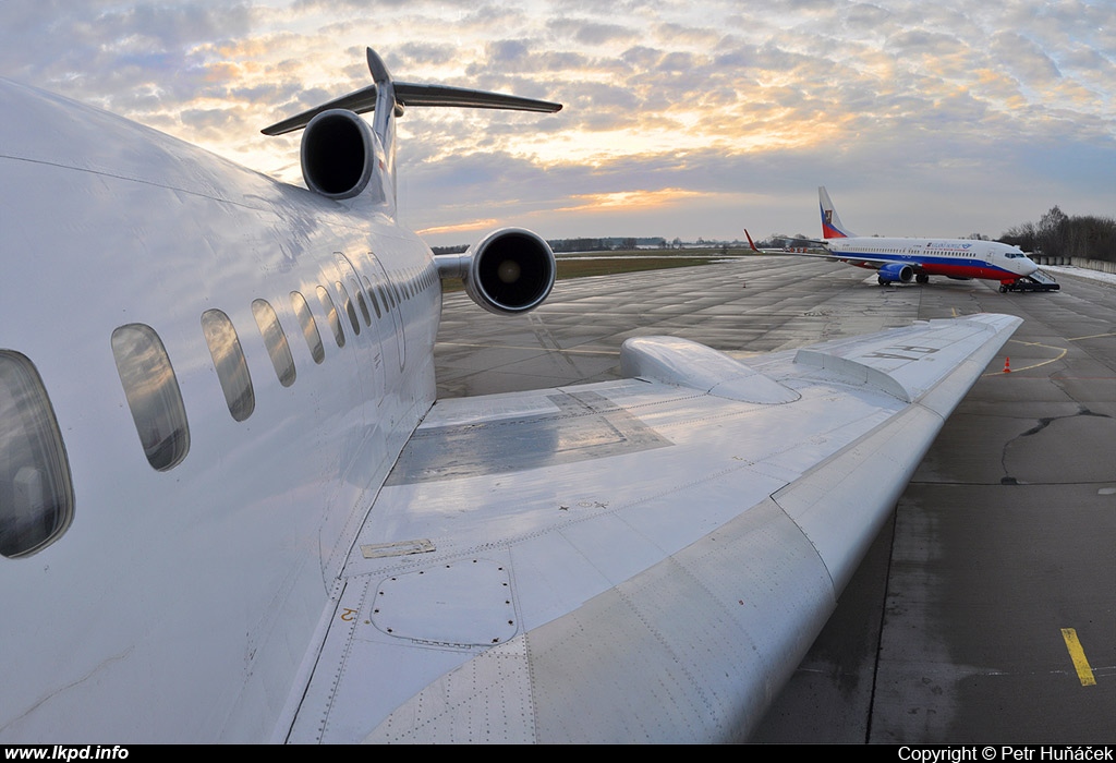
[[35, 366], [0, 351], [0, 554], [29, 557], [74, 519], [61, 433]]

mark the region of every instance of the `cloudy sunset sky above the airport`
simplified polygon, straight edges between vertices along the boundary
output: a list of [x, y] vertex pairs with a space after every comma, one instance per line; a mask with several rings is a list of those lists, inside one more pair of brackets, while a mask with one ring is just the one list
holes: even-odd
[[432, 245], [820, 233], [997, 238], [1116, 216], [1114, 0], [0, 0], [0, 77], [301, 184], [269, 124], [392, 75], [557, 100], [412, 108], [401, 222]]

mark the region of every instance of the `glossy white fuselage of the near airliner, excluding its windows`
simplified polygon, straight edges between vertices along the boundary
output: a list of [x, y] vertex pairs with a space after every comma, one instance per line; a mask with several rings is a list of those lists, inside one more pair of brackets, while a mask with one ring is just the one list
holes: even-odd
[[[75, 504], [65, 543], [3, 564], [0, 736], [267, 738], [291, 688], [269, 680], [300, 668], [353, 524], [434, 400], [430, 249], [375, 209], [112, 115], [10, 83], [0, 103], [0, 348], [49, 392]], [[320, 363], [290, 331], [292, 292], [317, 318]], [[290, 386], [257, 299], [288, 327]], [[248, 360], [241, 422], [203, 336], [211, 309]], [[189, 457], [165, 472], [145, 458], [109, 346], [133, 323], [162, 339], [189, 421]]]

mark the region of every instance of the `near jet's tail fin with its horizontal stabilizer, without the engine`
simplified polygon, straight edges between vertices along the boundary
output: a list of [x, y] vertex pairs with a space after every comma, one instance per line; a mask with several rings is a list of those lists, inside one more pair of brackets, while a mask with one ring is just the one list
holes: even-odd
[[360, 88], [333, 100], [316, 106], [292, 117], [277, 122], [261, 132], [264, 135], [282, 135], [301, 129], [310, 124], [317, 115], [333, 109], [344, 109], [356, 114], [375, 112], [372, 132], [379, 138], [384, 152], [385, 187], [391, 194], [391, 204], [395, 206], [395, 119], [403, 116], [406, 106], [461, 106], [474, 108], [500, 108], [519, 112], [539, 112], [552, 114], [561, 109], [561, 104], [533, 98], [470, 90], [461, 87], [444, 87], [439, 85], [414, 85], [397, 83], [376, 51], [368, 48], [368, 71], [373, 85]]

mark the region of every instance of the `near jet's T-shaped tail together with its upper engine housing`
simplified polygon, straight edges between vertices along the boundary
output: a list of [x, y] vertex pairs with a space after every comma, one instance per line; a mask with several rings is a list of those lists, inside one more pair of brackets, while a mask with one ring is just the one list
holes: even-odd
[[[551, 114], [561, 104], [501, 93], [392, 79], [387, 66], [368, 48], [373, 84], [266, 127], [264, 135], [305, 128], [302, 176], [310, 190], [331, 199], [367, 194], [395, 216], [395, 119], [406, 106], [460, 106]], [[357, 114], [375, 112], [372, 127]]]

